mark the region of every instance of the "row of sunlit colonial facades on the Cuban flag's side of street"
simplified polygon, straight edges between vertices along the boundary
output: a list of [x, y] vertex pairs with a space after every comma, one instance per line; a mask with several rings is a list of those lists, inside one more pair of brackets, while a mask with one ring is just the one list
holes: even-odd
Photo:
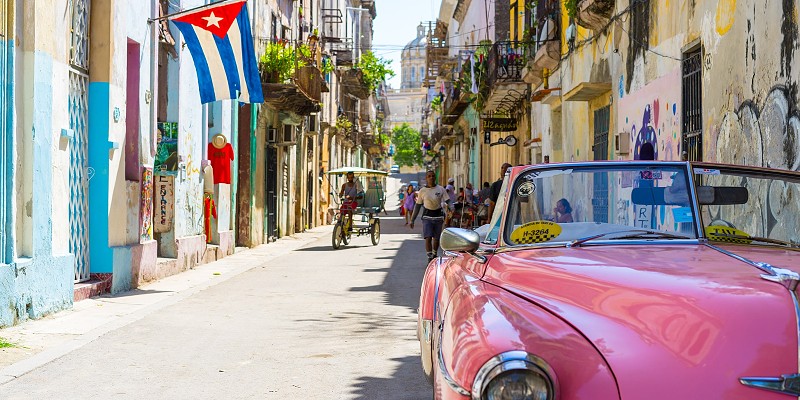
[[382, 157], [373, 1], [248, 1], [265, 101], [202, 105], [168, 17], [206, 3], [0, 0], [0, 327], [322, 224], [324, 172]]

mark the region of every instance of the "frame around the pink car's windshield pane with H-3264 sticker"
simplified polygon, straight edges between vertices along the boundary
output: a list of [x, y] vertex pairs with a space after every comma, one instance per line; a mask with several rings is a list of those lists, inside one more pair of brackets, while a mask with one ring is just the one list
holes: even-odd
[[[508, 185], [509, 188], [516, 188], [519, 184], [519, 181], [523, 179], [522, 177], [525, 176], [527, 173], [532, 171], [554, 171], [554, 170], [573, 170], [573, 173], [577, 170], [580, 173], [597, 173], [597, 172], [604, 172], [608, 170], [642, 170], [642, 169], [659, 169], [659, 168], [673, 168], [680, 170], [684, 173], [684, 176], [687, 179], [687, 192], [689, 195], [689, 202], [692, 209], [692, 229], [694, 231], [693, 238], [686, 238], [683, 239], [665, 239], [665, 238], [655, 238], [655, 239], [625, 239], [624, 242], [621, 240], [592, 240], [591, 244], [653, 244], [654, 241], [661, 241], [665, 244], [698, 244], [702, 240], [705, 239], [705, 234], [703, 232], [702, 227], [702, 219], [700, 216], [700, 206], [697, 202], [697, 193], [696, 193], [696, 185], [695, 185], [695, 177], [693, 174], [692, 164], [689, 162], [682, 162], [682, 161], [589, 161], [589, 162], [580, 162], [580, 163], [558, 163], [558, 164], [538, 164], [538, 165], [528, 165], [525, 167], [516, 167], [511, 172], [511, 179], [506, 179], [504, 182], [504, 186]], [[569, 241], [551, 241], [551, 242], [542, 242], [536, 244], [515, 244], [510, 240], [509, 235], [511, 232], [508, 230], [508, 218], [513, 211], [511, 208], [515, 207], [517, 204], [516, 197], [518, 196], [516, 190], [507, 190], [505, 204], [502, 209], [502, 221], [500, 222], [500, 234], [498, 235], [497, 245], [498, 247], [508, 247], [508, 248], [531, 248], [531, 247], [563, 247], [569, 243]], [[630, 227], [631, 230], [637, 229], [634, 226]], [[589, 245], [589, 243], [587, 243]]]

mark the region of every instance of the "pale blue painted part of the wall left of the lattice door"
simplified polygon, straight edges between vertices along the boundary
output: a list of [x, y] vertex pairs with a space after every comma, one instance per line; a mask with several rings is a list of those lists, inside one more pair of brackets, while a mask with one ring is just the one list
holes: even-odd
[[23, 130], [23, 134], [31, 135], [32, 184], [39, 188], [33, 193], [31, 207], [33, 257], [0, 267], [0, 327], [70, 308], [74, 289], [74, 257], [53, 256], [53, 192], [41, 190], [52, 188], [53, 182], [53, 60], [37, 52], [33, 65], [25, 67], [33, 74], [31, 106], [36, 110], [30, 131]]

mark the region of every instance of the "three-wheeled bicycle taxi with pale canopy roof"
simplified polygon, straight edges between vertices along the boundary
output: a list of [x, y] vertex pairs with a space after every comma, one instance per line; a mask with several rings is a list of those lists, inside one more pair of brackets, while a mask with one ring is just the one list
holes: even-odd
[[[358, 190], [342, 195], [342, 185], [347, 181], [347, 175], [353, 173], [354, 183]], [[343, 244], [350, 243], [352, 235], [369, 235], [372, 245], [377, 245], [381, 240], [381, 221], [378, 214], [386, 203], [386, 176], [388, 173], [374, 169], [360, 167], [343, 167], [328, 171], [331, 178], [331, 193], [336, 202], [334, 214], [335, 225], [331, 236], [334, 249], [339, 249]]]

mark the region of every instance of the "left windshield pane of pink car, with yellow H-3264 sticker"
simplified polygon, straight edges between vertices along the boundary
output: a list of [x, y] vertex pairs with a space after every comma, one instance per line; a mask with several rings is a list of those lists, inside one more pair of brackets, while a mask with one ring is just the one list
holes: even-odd
[[685, 164], [532, 167], [509, 191], [510, 245], [696, 239]]

